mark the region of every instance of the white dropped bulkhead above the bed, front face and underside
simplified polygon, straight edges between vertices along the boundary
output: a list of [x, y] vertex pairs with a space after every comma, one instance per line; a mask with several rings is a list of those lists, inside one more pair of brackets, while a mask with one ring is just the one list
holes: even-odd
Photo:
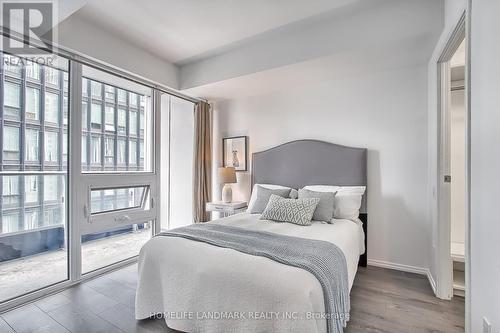
[[182, 66], [180, 87], [222, 100], [427, 66], [442, 31], [442, 9], [435, 0], [354, 4]]

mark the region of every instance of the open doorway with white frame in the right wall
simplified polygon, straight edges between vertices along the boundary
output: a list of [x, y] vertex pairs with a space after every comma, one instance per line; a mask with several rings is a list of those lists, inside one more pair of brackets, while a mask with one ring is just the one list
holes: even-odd
[[438, 61], [437, 296], [464, 297], [469, 281], [470, 91], [466, 15]]

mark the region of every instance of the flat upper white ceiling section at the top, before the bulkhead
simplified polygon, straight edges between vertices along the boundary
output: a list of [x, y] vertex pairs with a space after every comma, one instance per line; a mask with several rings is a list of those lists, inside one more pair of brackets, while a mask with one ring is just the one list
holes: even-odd
[[90, 0], [76, 14], [171, 63], [363, 0]]

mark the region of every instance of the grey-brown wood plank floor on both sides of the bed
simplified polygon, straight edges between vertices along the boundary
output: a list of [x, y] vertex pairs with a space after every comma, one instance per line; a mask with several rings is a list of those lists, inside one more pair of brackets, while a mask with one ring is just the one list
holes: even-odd
[[[165, 322], [134, 319], [132, 265], [0, 316], [0, 332], [175, 332]], [[463, 332], [464, 301], [434, 297], [425, 276], [360, 268], [346, 332]]]

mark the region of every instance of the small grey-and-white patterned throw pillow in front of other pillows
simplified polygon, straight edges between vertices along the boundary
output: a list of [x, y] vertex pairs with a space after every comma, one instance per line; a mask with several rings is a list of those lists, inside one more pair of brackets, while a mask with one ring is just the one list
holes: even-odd
[[273, 194], [260, 219], [310, 225], [318, 203], [319, 198], [285, 199]]

